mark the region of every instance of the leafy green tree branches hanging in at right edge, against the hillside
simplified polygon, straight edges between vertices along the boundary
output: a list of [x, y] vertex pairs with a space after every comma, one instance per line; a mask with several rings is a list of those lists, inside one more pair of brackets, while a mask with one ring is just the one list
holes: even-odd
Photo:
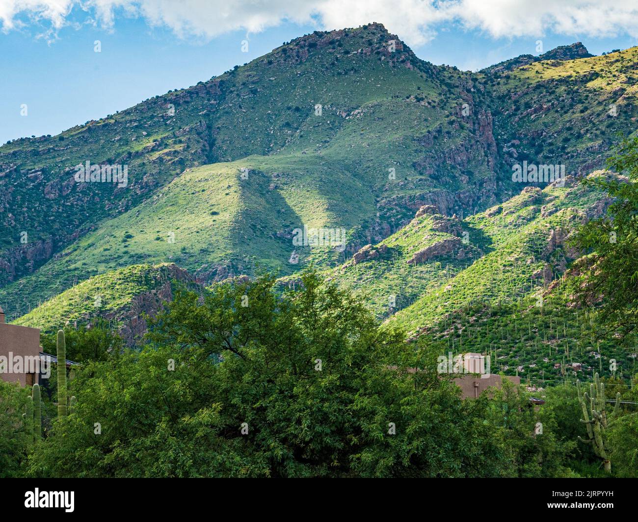
[[575, 279], [576, 295], [586, 305], [602, 300], [600, 337], [618, 333], [629, 341], [638, 326], [638, 137], [623, 140], [608, 167], [625, 178], [584, 180], [614, 201], [604, 217], [588, 222], [575, 236], [575, 244], [591, 253]]

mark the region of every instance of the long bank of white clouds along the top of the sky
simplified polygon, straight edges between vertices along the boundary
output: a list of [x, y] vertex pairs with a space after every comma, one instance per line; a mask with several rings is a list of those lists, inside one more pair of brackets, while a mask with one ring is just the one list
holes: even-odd
[[242, 29], [258, 33], [285, 20], [319, 29], [381, 22], [409, 45], [431, 40], [441, 23], [479, 29], [494, 38], [543, 36], [638, 37], [636, 0], [0, 0], [0, 27], [45, 22], [57, 31], [71, 13], [107, 27], [119, 16], [144, 17], [177, 36], [214, 38]]

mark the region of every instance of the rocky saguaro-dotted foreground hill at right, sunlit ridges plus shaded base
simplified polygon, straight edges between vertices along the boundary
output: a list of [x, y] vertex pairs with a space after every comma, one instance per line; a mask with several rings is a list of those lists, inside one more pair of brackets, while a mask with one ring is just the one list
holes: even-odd
[[[595, 340], [590, 312], [570, 302], [565, 245], [547, 250], [552, 229], [569, 229], [591, 215], [601, 197], [581, 185], [526, 191], [464, 220], [470, 245], [463, 248], [473, 257], [408, 266], [415, 250], [449, 237], [433, 232], [433, 217], [425, 215], [376, 245], [389, 247], [385, 255], [330, 275], [364, 293], [378, 316], [428, 338], [441, 355], [491, 355], [492, 372], [519, 375], [531, 386], [587, 380], [593, 372], [628, 379], [638, 354], [612, 339]], [[551, 284], [530, 279], [545, 266], [553, 272]]]

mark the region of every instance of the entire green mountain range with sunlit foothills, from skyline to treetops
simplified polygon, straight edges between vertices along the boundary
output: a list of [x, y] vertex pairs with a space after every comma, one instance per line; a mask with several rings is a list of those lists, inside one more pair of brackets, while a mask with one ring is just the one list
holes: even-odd
[[[58, 136], [11, 141], [0, 303], [27, 314], [20, 324], [98, 314], [126, 330], [135, 296], [168, 295], [126, 286], [154, 280], [126, 270], [174, 266], [171, 284], [204, 287], [264, 268], [292, 282], [311, 263], [415, 332], [468, 302], [526, 296], [538, 270], [560, 277], [572, 261], [528, 264], [531, 242], [604, 210], [578, 180], [634, 131], [637, 53], [576, 43], [471, 73], [420, 60], [381, 24], [316, 31]], [[568, 185], [514, 182], [523, 161], [563, 166]], [[87, 162], [126, 166], [126, 182], [78, 181]], [[304, 226], [343, 230], [344, 244], [295, 244]]]

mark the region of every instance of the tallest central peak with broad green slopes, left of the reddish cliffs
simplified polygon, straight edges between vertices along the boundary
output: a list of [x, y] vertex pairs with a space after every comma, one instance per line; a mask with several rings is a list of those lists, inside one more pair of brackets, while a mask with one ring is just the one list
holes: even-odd
[[[208, 250], [186, 266], [198, 270], [212, 263], [204, 276], [209, 281], [219, 269], [239, 270], [246, 259], [248, 272], [253, 262], [282, 266], [290, 248], [264, 245], [271, 235], [286, 235], [287, 226], [345, 227], [356, 248], [403, 226], [423, 201], [445, 201], [449, 210], [485, 206], [497, 192], [491, 116], [478, 108], [456, 116], [463, 100], [474, 103], [472, 90], [469, 73], [420, 61], [373, 24], [313, 33], [209, 82], [60, 136], [8, 143], [0, 148], [0, 183], [15, 188], [0, 199], [6, 225], [0, 300], [11, 310], [20, 300], [17, 292], [30, 305], [47, 298], [38, 274], [43, 265], [43, 273], [56, 273], [62, 289], [114, 268], [97, 252], [113, 253], [127, 234], [134, 238], [118, 252], [122, 264], [179, 260], [152, 243], [157, 231], [167, 229], [162, 221], [175, 231], [185, 226], [179, 211], [177, 220], [149, 212], [163, 198], [177, 203], [188, 194], [199, 206], [191, 231], [209, 228], [208, 241], [191, 233], [176, 240], [175, 248], [190, 257]], [[128, 186], [76, 183], [74, 166], [85, 161], [127, 164]], [[202, 192], [191, 185], [203, 164], [215, 175], [245, 166], [272, 179], [242, 184], [241, 190], [237, 180], [226, 180], [226, 189], [212, 181]], [[468, 197], [468, 185], [482, 189]], [[255, 224], [251, 207], [272, 217]], [[220, 217], [205, 219], [208, 208]], [[223, 229], [224, 215], [239, 221]], [[140, 216], [148, 219], [140, 224]], [[21, 243], [24, 232], [27, 241]], [[241, 240], [253, 233], [257, 240], [233, 245], [232, 236]], [[78, 261], [58, 263], [73, 252]], [[339, 261], [327, 252], [302, 257]], [[13, 286], [21, 279], [23, 286]]]

